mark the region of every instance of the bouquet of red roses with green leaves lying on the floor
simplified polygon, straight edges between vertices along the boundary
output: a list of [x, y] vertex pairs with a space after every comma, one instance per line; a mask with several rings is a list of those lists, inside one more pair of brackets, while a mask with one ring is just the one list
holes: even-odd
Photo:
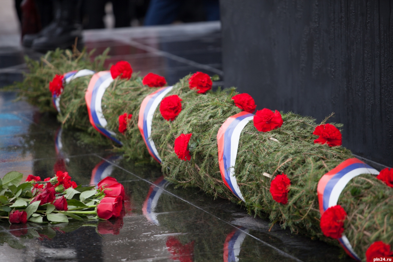
[[44, 181], [29, 175], [20, 183], [22, 177], [13, 171], [0, 179], [0, 219], [11, 224], [108, 220], [119, 217], [123, 209], [124, 187], [112, 177], [101, 180], [97, 187], [77, 186], [68, 172], [62, 171]]

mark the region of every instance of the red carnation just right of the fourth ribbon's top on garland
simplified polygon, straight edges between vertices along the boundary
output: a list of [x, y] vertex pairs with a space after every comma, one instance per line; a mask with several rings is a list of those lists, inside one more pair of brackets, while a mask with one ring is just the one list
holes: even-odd
[[260, 132], [268, 132], [283, 125], [283, 118], [280, 112], [263, 108], [258, 110], [254, 115], [254, 126]]

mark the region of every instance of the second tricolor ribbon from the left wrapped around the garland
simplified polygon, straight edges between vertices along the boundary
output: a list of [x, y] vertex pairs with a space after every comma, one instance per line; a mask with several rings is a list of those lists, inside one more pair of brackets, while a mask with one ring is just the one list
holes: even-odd
[[110, 71], [95, 73], [92, 79], [90, 79], [84, 99], [86, 100], [90, 123], [95, 130], [112, 139], [119, 145], [122, 145], [122, 143], [116, 139], [116, 134], [105, 128], [108, 122], [102, 113], [101, 107], [102, 97], [112, 81], [113, 78]]

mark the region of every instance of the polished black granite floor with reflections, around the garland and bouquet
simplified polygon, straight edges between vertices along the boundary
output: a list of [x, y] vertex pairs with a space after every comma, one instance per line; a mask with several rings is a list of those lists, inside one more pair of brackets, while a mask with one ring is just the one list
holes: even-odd
[[[128, 60], [141, 75], [159, 73], [172, 84], [195, 71], [222, 77], [219, 29], [202, 23], [92, 30], [85, 41], [97, 53], [111, 46], [110, 62]], [[0, 52], [0, 86], [22, 78], [24, 52], [29, 50]], [[228, 200], [176, 188], [158, 166], [83, 145], [77, 132], [60, 129], [55, 116], [13, 99], [15, 93], [0, 92], [0, 177], [17, 170], [46, 178], [62, 169], [89, 185], [110, 175], [125, 186], [126, 201], [124, 216], [113, 221], [1, 223], [0, 261], [351, 261], [338, 247], [270, 227]]]

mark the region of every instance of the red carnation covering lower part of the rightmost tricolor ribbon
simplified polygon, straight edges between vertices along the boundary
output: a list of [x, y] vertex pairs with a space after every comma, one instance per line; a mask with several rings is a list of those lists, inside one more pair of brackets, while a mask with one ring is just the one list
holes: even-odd
[[346, 217], [347, 213], [341, 205], [335, 205], [326, 209], [322, 214], [320, 222], [323, 235], [336, 239], [340, 238], [344, 232], [344, 220]]

